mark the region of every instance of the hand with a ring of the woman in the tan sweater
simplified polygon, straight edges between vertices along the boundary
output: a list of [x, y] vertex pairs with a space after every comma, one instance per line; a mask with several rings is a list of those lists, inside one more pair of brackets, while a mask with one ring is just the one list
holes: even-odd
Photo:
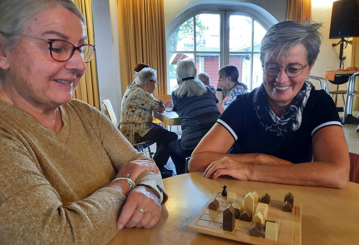
[[[145, 213], [138, 210], [141, 208]], [[117, 220], [117, 229], [124, 226], [150, 228], [157, 224], [161, 215], [162, 207], [158, 196], [144, 186], [135, 187], [127, 197]]]

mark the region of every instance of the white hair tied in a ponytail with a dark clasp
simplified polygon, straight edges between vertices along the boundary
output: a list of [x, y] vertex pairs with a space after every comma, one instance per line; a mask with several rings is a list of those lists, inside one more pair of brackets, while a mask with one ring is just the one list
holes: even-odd
[[[178, 88], [173, 91], [174, 95], [179, 98], [201, 96], [207, 93], [206, 85], [197, 77], [197, 68], [195, 62], [190, 59], [181, 61], [176, 68]], [[183, 78], [194, 77], [194, 79], [182, 81]]]

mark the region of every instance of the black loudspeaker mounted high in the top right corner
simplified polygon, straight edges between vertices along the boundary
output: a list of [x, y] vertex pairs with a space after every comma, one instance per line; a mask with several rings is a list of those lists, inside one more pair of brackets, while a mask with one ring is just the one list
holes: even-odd
[[359, 0], [333, 2], [329, 39], [359, 37]]

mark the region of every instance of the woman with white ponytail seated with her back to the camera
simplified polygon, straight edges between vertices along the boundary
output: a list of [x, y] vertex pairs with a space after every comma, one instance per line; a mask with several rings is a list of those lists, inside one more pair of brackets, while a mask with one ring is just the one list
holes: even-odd
[[177, 65], [179, 87], [172, 92], [173, 111], [181, 118], [182, 137], [169, 144], [169, 154], [176, 173], [185, 173], [186, 158], [190, 157], [202, 137], [220, 116], [218, 99], [211, 89], [196, 78], [195, 63], [188, 59]]

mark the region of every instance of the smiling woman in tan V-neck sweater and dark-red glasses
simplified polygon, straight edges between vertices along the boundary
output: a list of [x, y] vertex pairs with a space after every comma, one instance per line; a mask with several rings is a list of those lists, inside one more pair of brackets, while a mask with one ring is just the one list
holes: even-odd
[[159, 220], [153, 160], [72, 99], [86, 40], [71, 0], [0, 1], [0, 244], [107, 244]]

